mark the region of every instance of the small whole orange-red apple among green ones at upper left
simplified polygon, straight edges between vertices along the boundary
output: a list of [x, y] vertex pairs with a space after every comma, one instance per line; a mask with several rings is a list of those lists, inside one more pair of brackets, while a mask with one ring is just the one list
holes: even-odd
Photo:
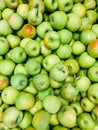
[[36, 35], [36, 29], [30, 24], [25, 24], [22, 28], [23, 37], [34, 38]]

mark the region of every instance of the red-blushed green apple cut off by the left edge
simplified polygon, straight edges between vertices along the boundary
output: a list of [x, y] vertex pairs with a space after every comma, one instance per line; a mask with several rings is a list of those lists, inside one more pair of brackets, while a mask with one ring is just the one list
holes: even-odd
[[0, 74], [0, 90], [4, 90], [9, 85], [9, 78], [6, 75]]

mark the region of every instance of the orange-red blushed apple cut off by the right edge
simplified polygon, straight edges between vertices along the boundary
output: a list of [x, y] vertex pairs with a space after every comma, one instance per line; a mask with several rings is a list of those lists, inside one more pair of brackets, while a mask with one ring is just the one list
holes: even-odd
[[87, 47], [87, 52], [89, 53], [90, 56], [93, 58], [98, 58], [98, 39], [92, 41], [88, 47]]

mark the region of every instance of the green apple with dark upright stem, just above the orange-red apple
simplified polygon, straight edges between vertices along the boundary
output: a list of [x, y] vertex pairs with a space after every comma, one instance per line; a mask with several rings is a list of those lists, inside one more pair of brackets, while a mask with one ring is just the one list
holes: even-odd
[[27, 20], [28, 20], [29, 24], [37, 26], [42, 22], [43, 15], [42, 15], [41, 11], [39, 11], [38, 9], [32, 8], [28, 12]]

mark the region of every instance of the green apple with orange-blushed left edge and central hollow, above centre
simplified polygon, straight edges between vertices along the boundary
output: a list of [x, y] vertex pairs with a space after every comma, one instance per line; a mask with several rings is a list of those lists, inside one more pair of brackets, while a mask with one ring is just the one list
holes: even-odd
[[56, 31], [49, 31], [45, 34], [44, 44], [47, 48], [55, 50], [60, 45], [60, 36]]

